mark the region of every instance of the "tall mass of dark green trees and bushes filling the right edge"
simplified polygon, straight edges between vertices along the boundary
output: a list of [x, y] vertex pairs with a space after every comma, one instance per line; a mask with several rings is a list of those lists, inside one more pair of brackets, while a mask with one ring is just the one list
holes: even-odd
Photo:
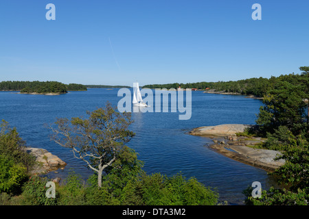
[[250, 188], [244, 191], [248, 205], [308, 205], [309, 68], [299, 69], [304, 71], [301, 75], [279, 77], [264, 94], [258, 134], [267, 137], [264, 148], [281, 151], [277, 159], [285, 163], [268, 173], [277, 177], [279, 188], [262, 191], [261, 198], [253, 198]]

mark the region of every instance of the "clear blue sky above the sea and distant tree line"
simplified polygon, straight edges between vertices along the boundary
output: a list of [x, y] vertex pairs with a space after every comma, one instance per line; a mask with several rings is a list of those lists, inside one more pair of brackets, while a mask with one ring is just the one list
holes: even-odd
[[308, 14], [305, 0], [1, 0], [0, 81], [133, 86], [299, 73], [309, 66]]

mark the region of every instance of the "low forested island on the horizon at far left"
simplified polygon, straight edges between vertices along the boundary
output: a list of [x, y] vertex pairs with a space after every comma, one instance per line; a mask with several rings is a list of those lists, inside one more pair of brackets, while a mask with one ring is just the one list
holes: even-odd
[[19, 91], [27, 94], [65, 94], [68, 91], [87, 90], [78, 83], [61, 83], [58, 81], [1, 81], [1, 91]]

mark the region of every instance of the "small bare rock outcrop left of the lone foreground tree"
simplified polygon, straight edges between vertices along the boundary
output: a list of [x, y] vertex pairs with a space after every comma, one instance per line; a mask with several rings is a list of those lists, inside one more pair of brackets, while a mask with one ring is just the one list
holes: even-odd
[[62, 159], [56, 155], [52, 155], [52, 153], [49, 153], [45, 149], [27, 147], [26, 150], [36, 157], [36, 162], [38, 163], [34, 170], [32, 170], [32, 173], [41, 175], [67, 165]]

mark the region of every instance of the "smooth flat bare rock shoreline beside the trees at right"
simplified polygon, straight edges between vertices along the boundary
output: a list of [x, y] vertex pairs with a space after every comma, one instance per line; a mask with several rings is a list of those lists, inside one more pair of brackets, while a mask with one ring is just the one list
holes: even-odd
[[268, 172], [273, 172], [282, 166], [283, 159], [275, 160], [275, 157], [281, 154], [279, 151], [253, 148], [256, 144], [262, 144], [264, 139], [236, 136], [236, 133], [243, 132], [247, 127], [252, 125], [225, 124], [198, 127], [190, 131], [190, 134], [213, 139], [214, 144], [210, 144], [209, 148], [238, 162], [262, 168]]

